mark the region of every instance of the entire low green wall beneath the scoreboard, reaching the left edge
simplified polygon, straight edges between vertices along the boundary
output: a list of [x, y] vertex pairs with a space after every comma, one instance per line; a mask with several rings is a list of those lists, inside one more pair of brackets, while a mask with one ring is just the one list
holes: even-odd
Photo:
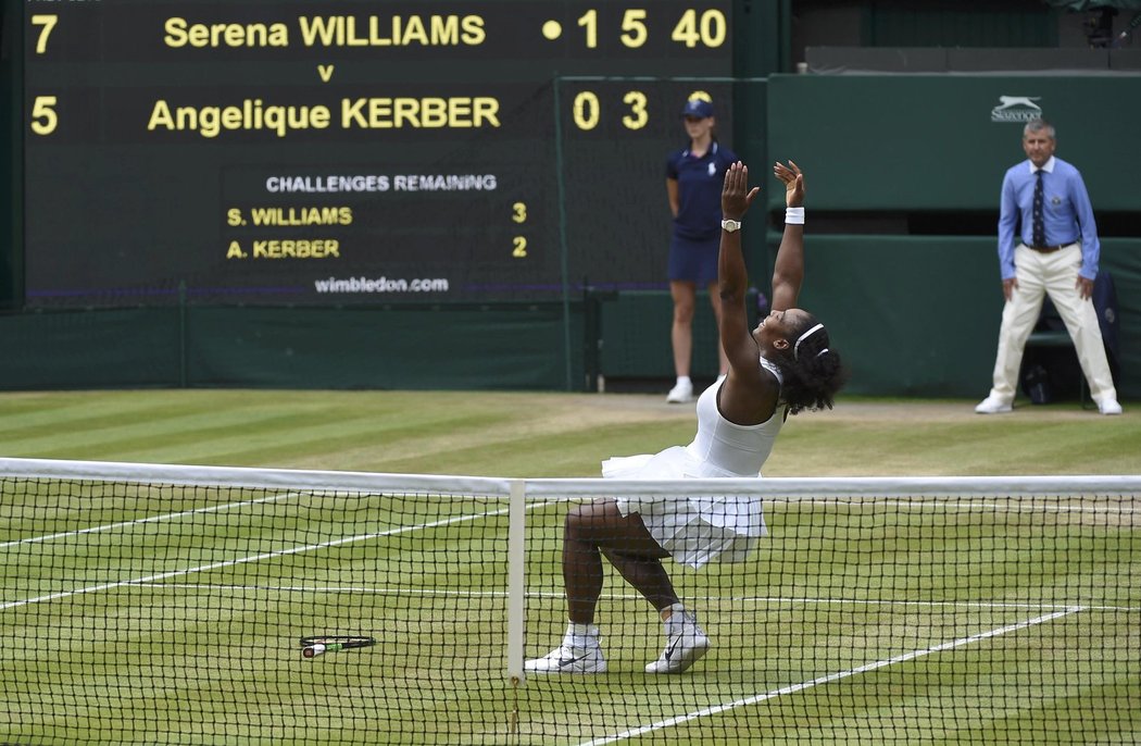
[[[0, 315], [0, 388], [574, 390], [581, 308], [131, 308]], [[570, 335], [570, 370], [565, 338]]]

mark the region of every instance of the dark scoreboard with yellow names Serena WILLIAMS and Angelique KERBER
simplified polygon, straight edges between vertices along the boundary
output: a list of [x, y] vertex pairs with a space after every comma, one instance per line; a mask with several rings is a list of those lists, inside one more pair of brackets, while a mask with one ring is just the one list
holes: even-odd
[[[32, 307], [664, 283], [729, 0], [26, 0]], [[730, 143], [731, 146], [731, 143]]]

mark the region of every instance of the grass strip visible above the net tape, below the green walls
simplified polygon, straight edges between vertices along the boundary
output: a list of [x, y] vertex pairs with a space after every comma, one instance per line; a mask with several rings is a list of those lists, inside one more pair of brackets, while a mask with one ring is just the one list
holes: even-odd
[[[982, 417], [973, 414], [974, 402], [966, 401], [853, 400], [841, 400], [834, 411], [790, 418], [766, 465], [766, 475], [1141, 473], [1141, 417], [1128, 406], [1120, 417], [1101, 417], [1069, 403], [1020, 407], [1012, 415]], [[122, 443], [106, 443], [96, 434], [105, 426], [104, 417], [111, 425], [133, 425], [148, 419], [148, 412], [162, 418], [167, 412], [221, 416], [242, 411], [249, 412], [246, 419], [252, 423], [264, 419], [261, 410], [282, 417], [265, 427], [277, 439], [276, 444], [261, 441], [259, 448], [251, 449], [237, 443], [236, 450], [220, 451], [210, 442], [217, 433], [202, 432], [164, 449], [167, 435], [151, 442], [128, 438]], [[453, 430], [448, 418], [464, 415], [483, 418], [486, 425]], [[293, 427], [304, 428], [316, 420], [370, 417], [391, 423], [396, 430], [365, 428], [358, 431], [357, 442], [339, 441], [330, 448], [314, 448], [313, 441], [306, 440], [290, 450]], [[37, 430], [50, 423], [58, 423], [54, 432]], [[235, 390], [0, 393], [0, 452], [73, 459], [593, 476], [599, 460], [608, 456], [653, 452], [688, 442], [693, 426], [690, 408], [669, 407], [656, 394]], [[590, 436], [582, 438], [582, 433]], [[62, 446], [52, 434], [74, 438]], [[41, 438], [44, 440], [38, 440]], [[485, 451], [472, 449], [496, 442], [504, 444]], [[453, 452], [461, 457], [454, 458]]]

